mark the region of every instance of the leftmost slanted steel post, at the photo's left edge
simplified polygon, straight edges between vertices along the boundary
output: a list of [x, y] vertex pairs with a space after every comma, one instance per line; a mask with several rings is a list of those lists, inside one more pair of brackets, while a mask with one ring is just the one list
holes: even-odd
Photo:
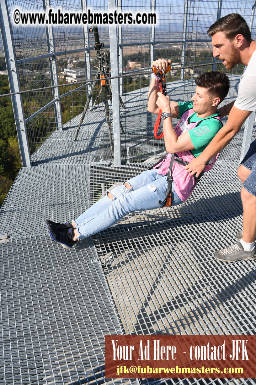
[[[3, 50], [5, 54], [5, 62], [7, 65], [10, 92], [20, 92], [18, 67], [16, 63], [12, 27], [8, 13], [7, 0], [2, 0], [0, 2], [0, 30], [2, 35]], [[12, 106], [18, 134], [21, 163], [24, 167], [30, 167], [30, 149], [28, 145], [28, 136], [26, 133], [25, 116], [21, 94], [12, 95]]]

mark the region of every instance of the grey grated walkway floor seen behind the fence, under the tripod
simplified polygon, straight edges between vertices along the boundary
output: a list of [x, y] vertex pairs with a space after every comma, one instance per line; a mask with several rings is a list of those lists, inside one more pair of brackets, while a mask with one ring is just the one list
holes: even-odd
[[[225, 99], [225, 103], [233, 100], [237, 95], [238, 78], [230, 77], [231, 89]], [[183, 81], [177, 80], [167, 85], [170, 98], [182, 101], [184, 97]], [[194, 91], [195, 84], [188, 80], [189, 87]], [[187, 100], [190, 96], [187, 95]], [[223, 105], [223, 103], [221, 104]], [[110, 106], [110, 105], [109, 105]], [[109, 142], [106, 117], [103, 116], [102, 103], [94, 111], [87, 111], [76, 141], [74, 135], [78, 128], [81, 114], [64, 124], [66, 131], [53, 132], [31, 157], [33, 164], [41, 163], [106, 163], [114, 160]], [[121, 122], [125, 128], [125, 134], [121, 133], [122, 161], [129, 162], [154, 162], [165, 152], [164, 139], [155, 139], [153, 127], [156, 116], [147, 113], [147, 122], [144, 122], [143, 114], [147, 109], [147, 88], [135, 90], [126, 94], [126, 109], [121, 108]], [[112, 117], [112, 114], [111, 114]], [[36, 119], [36, 118], [35, 118]], [[178, 120], [173, 119], [173, 125]], [[147, 126], [144, 126], [147, 123]], [[225, 123], [225, 119], [223, 119]], [[162, 125], [159, 132], [162, 130]], [[243, 132], [243, 129], [242, 129]], [[221, 152], [221, 160], [239, 160], [239, 152], [243, 141], [242, 132], [236, 136], [232, 143]], [[34, 135], [36, 131], [34, 130]], [[225, 155], [226, 154], [226, 155]], [[226, 156], [226, 157], [225, 157]]]

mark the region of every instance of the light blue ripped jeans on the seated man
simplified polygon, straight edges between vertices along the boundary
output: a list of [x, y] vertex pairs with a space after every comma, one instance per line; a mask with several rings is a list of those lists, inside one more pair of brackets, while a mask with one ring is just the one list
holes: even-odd
[[[114, 199], [107, 196], [99, 199], [82, 215], [75, 219], [78, 229], [78, 239], [84, 239], [115, 224], [129, 213], [140, 210], [150, 210], [162, 207], [167, 191], [167, 176], [160, 175], [155, 170], [147, 170], [127, 181], [131, 189], [124, 184], [111, 190]], [[183, 203], [173, 191], [173, 206]]]

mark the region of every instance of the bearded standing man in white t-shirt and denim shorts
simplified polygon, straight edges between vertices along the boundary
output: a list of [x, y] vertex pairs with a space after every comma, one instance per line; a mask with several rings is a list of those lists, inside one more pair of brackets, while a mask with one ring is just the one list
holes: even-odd
[[[242, 124], [253, 110], [256, 110], [256, 41], [251, 39], [249, 27], [241, 15], [231, 13], [220, 18], [208, 29], [213, 45], [213, 56], [222, 60], [226, 69], [236, 64], [247, 66], [238, 88], [235, 102], [219, 109], [221, 117], [228, 115], [228, 121], [216, 134], [200, 156], [185, 168], [198, 176], [213, 155], [227, 146], [241, 129]], [[251, 143], [238, 176], [243, 183], [241, 199], [243, 203], [243, 230], [236, 235], [239, 241], [233, 246], [215, 251], [221, 261], [235, 262], [256, 257], [256, 141]]]

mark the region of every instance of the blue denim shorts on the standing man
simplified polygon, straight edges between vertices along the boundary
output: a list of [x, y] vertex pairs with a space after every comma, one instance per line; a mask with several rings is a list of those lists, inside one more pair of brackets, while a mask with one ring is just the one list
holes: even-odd
[[251, 170], [248, 178], [244, 181], [243, 187], [252, 195], [256, 196], [256, 139], [251, 142], [250, 148], [244, 157], [241, 165]]

